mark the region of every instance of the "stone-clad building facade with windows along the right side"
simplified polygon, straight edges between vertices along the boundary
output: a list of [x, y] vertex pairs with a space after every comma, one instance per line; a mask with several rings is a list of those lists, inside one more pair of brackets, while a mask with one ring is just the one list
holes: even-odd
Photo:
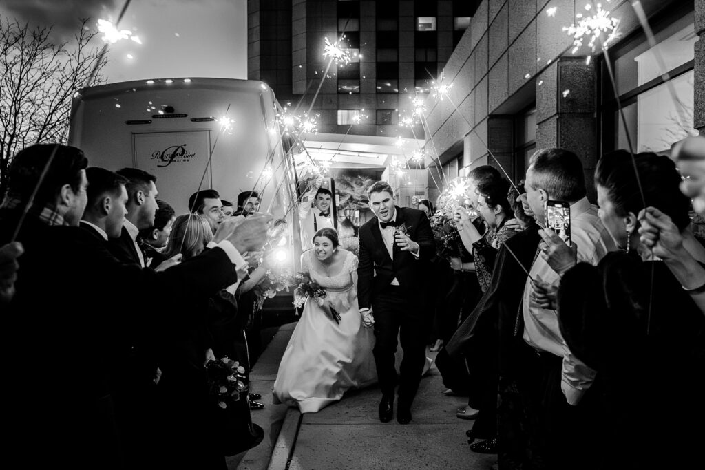
[[[563, 147], [580, 156], [592, 185], [596, 159], [627, 148], [627, 136], [635, 151], [661, 152], [705, 127], [705, 46], [698, 40], [705, 27], [705, 0], [640, 2], [661, 54], [649, 46], [630, 1], [601, 1], [610, 17], [620, 20], [608, 56], [599, 46], [594, 53], [584, 46], [572, 54], [573, 38], [563, 27], [578, 13], [593, 14], [598, 2], [592, 11], [587, 3], [479, 4], [443, 70], [443, 83], [453, 85], [448, 97], [428, 97], [425, 103], [427, 142], [430, 138], [436, 149], [427, 143], [427, 154], [437, 151], [447, 179], [501, 163], [518, 181], [535, 149]], [[668, 78], [661, 75], [659, 56]], [[608, 65], [628, 132], [618, 119]], [[427, 164], [434, 162], [427, 158]], [[438, 194], [430, 178], [428, 192]]]

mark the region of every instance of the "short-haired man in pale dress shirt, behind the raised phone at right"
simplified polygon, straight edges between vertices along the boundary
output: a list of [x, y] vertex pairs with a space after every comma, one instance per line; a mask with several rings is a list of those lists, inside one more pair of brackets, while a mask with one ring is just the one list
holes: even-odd
[[[526, 202], [537, 223], [546, 226], [546, 202], [570, 204], [570, 236], [577, 245], [577, 259], [596, 265], [615, 249], [608, 230], [602, 225], [597, 207], [587, 200], [584, 171], [580, 159], [568, 150], [542, 149], [529, 160]], [[568, 454], [575, 452], [574, 439], [585, 428], [586, 407], [578, 405], [591, 387], [595, 373], [577, 359], [563, 341], [555, 310], [539, 305], [534, 297], [534, 282], [557, 289], [560, 276], [539, 256], [544, 242], [525, 281], [522, 307], [517, 318], [517, 334], [522, 334], [528, 347], [523, 354], [524, 389], [527, 396], [543, 397], [529, 410], [531, 419], [539, 421], [537, 454], [548, 459], [549, 467], [560, 468]], [[562, 392], [562, 393], [561, 393]], [[573, 405], [573, 406], [569, 406]], [[586, 405], [589, 406], [589, 403]], [[588, 436], [584, 436], [587, 438]]]

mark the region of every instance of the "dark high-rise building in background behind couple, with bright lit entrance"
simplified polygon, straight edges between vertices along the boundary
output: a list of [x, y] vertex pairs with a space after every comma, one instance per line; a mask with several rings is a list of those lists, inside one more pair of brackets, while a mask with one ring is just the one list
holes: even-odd
[[[399, 125], [400, 116], [428, 94], [479, 3], [248, 0], [247, 76], [269, 84], [282, 106], [311, 109], [314, 158], [328, 152], [333, 166], [348, 167], [408, 160], [424, 129]], [[350, 63], [327, 68], [326, 39], [350, 49]]]

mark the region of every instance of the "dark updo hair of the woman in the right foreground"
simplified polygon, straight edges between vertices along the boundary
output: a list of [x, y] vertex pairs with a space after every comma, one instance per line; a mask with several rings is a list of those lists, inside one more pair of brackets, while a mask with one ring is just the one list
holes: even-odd
[[[690, 223], [690, 201], [680, 192], [680, 174], [668, 156], [651, 152], [635, 154], [636, 170], [644, 190], [646, 206], [668, 215], [683, 230]], [[644, 209], [642, 194], [635, 173], [635, 162], [628, 151], [617, 150], [597, 162], [595, 184], [603, 187], [607, 197], [620, 216], [632, 212], [635, 216]]]

